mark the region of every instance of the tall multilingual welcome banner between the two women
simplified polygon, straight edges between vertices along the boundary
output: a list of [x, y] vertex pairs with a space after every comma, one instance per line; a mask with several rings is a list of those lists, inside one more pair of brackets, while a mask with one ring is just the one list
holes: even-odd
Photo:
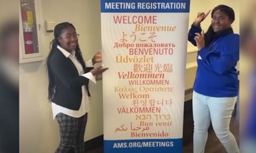
[[182, 152], [189, 0], [102, 0], [104, 152]]

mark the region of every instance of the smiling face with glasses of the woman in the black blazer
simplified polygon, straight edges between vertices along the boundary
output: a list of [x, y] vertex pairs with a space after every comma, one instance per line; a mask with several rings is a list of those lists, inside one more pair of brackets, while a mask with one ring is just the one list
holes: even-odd
[[60, 37], [58, 37], [58, 42], [60, 42], [63, 49], [71, 52], [76, 48], [78, 43], [76, 30], [71, 26], [63, 29]]

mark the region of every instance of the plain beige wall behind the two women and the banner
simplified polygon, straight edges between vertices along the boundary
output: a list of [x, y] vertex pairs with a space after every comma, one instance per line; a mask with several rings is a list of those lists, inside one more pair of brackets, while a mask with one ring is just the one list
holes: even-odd
[[[238, 32], [238, 0], [192, 0], [190, 2], [190, 24], [199, 11], [206, 12], [217, 4], [224, 2], [235, 9], [237, 16], [234, 30]], [[75, 25], [77, 33], [80, 33], [80, 48], [86, 60], [90, 59], [101, 48], [100, 0], [42, 0], [42, 11], [43, 21], [53, 19], [56, 23], [67, 21]], [[208, 17], [202, 25], [208, 27], [209, 24], [210, 18]], [[43, 32], [43, 36], [43, 54], [47, 55], [53, 33]], [[195, 48], [189, 46], [188, 50], [194, 51]], [[186, 89], [191, 88], [194, 81], [195, 55], [196, 52], [189, 52], [187, 56]], [[19, 73], [20, 152], [53, 152], [58, 145], [59, 134], [57, 122], [52, 120], [51, 105], [47, 101], [48, 81], [45, 61], [21, 64]], [[101, 86], [101, 81], [98, 81], [96, 85], [90, 84], [92, 97], [90, 99], [90, 113], [85, 140], [103, 134]]]

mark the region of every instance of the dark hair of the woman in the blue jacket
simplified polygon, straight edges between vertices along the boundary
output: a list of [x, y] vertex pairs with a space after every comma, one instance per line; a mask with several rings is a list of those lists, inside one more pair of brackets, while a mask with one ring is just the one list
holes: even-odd
[[[229, 6], [225, 6], [223, 4], [221, 5], [218, 5], [216, 7], [213, 8], [213, 11], [211, 11], [211, 18], [213, 18], [213, 13], [215, 11], [221, 11], [221, 12], [224, 12], [228, 17], [229, 19], [231, 20], [231, 23], [234, 22], [235, 20], [235, 12], [234, 10], [229, 7]], [[213, 34], [214, 34], [214, 31], [213, 31], [213, 27], [211, 27], [211, 25], [209, 26], [207, 32], [205, 33], [205, 46], [208, 46], [210, 41], [211, 41], [211, 38], [213, 37]]]

